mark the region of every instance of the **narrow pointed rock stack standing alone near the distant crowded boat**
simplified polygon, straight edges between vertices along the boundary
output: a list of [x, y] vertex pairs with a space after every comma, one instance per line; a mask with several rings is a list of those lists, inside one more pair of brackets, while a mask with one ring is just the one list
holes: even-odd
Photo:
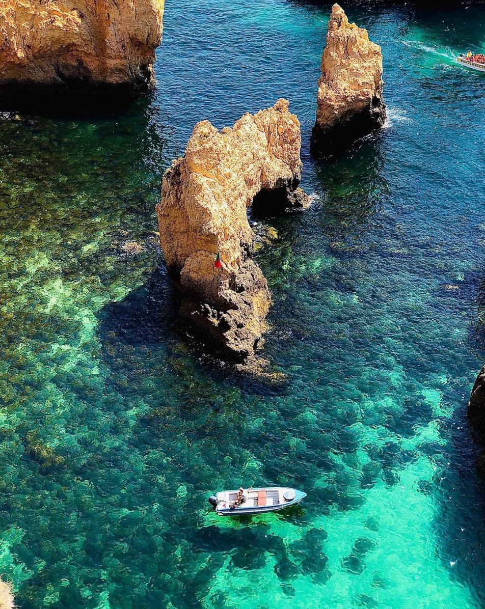
[[334, 4], [318, 83], [314, 153], [339, 152], [381, 127], [386, 118], [382, 90], [380, 46], [369, 40], [367, 30], [349, 23]]

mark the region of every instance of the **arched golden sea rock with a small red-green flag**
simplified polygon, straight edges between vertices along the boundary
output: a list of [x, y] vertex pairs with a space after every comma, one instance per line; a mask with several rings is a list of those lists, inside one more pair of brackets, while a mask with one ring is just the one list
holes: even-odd
[[160, 242], [180, 314], [236, 362], [253, 361], [271, 303], [246, 209], [303, 205], [300, 146], [300, 123], [280, 99], [221, 132], [199, 122], [163, 177]]

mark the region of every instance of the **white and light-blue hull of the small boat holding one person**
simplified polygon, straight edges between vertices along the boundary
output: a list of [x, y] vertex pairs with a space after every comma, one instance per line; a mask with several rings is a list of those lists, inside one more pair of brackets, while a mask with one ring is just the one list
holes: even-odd
[[[257, 514], [266, 514], [269, 512], [280, 512], [286, 509], [290, 505], [299, 504], [302, 499], [306, 497], [306, 493], [288, 487], [264, 487], [264, 488], [253, 488], [249, 491], [249, 496], [246, 502], [238, 507], [231, 509], [231, 497], [233, 497], [237, 491], [222, 491], [217, 494], [218, 504], [216, 505], [216, 513], [219, 516], [253, 516]], [[285, 494], [291, 493], [294, 498], [287, 500]], [[257, 502], [258, 496], [261, 497], [264, 494], [264, 502], [269, 501], [270, 496], [272, 498], [278, 497], [277, 502], [269, 505], [254, 505]], [[291, 495], [290, 495], [291, 496]], [[251, 504], [252, 502], [252, 504]]]

